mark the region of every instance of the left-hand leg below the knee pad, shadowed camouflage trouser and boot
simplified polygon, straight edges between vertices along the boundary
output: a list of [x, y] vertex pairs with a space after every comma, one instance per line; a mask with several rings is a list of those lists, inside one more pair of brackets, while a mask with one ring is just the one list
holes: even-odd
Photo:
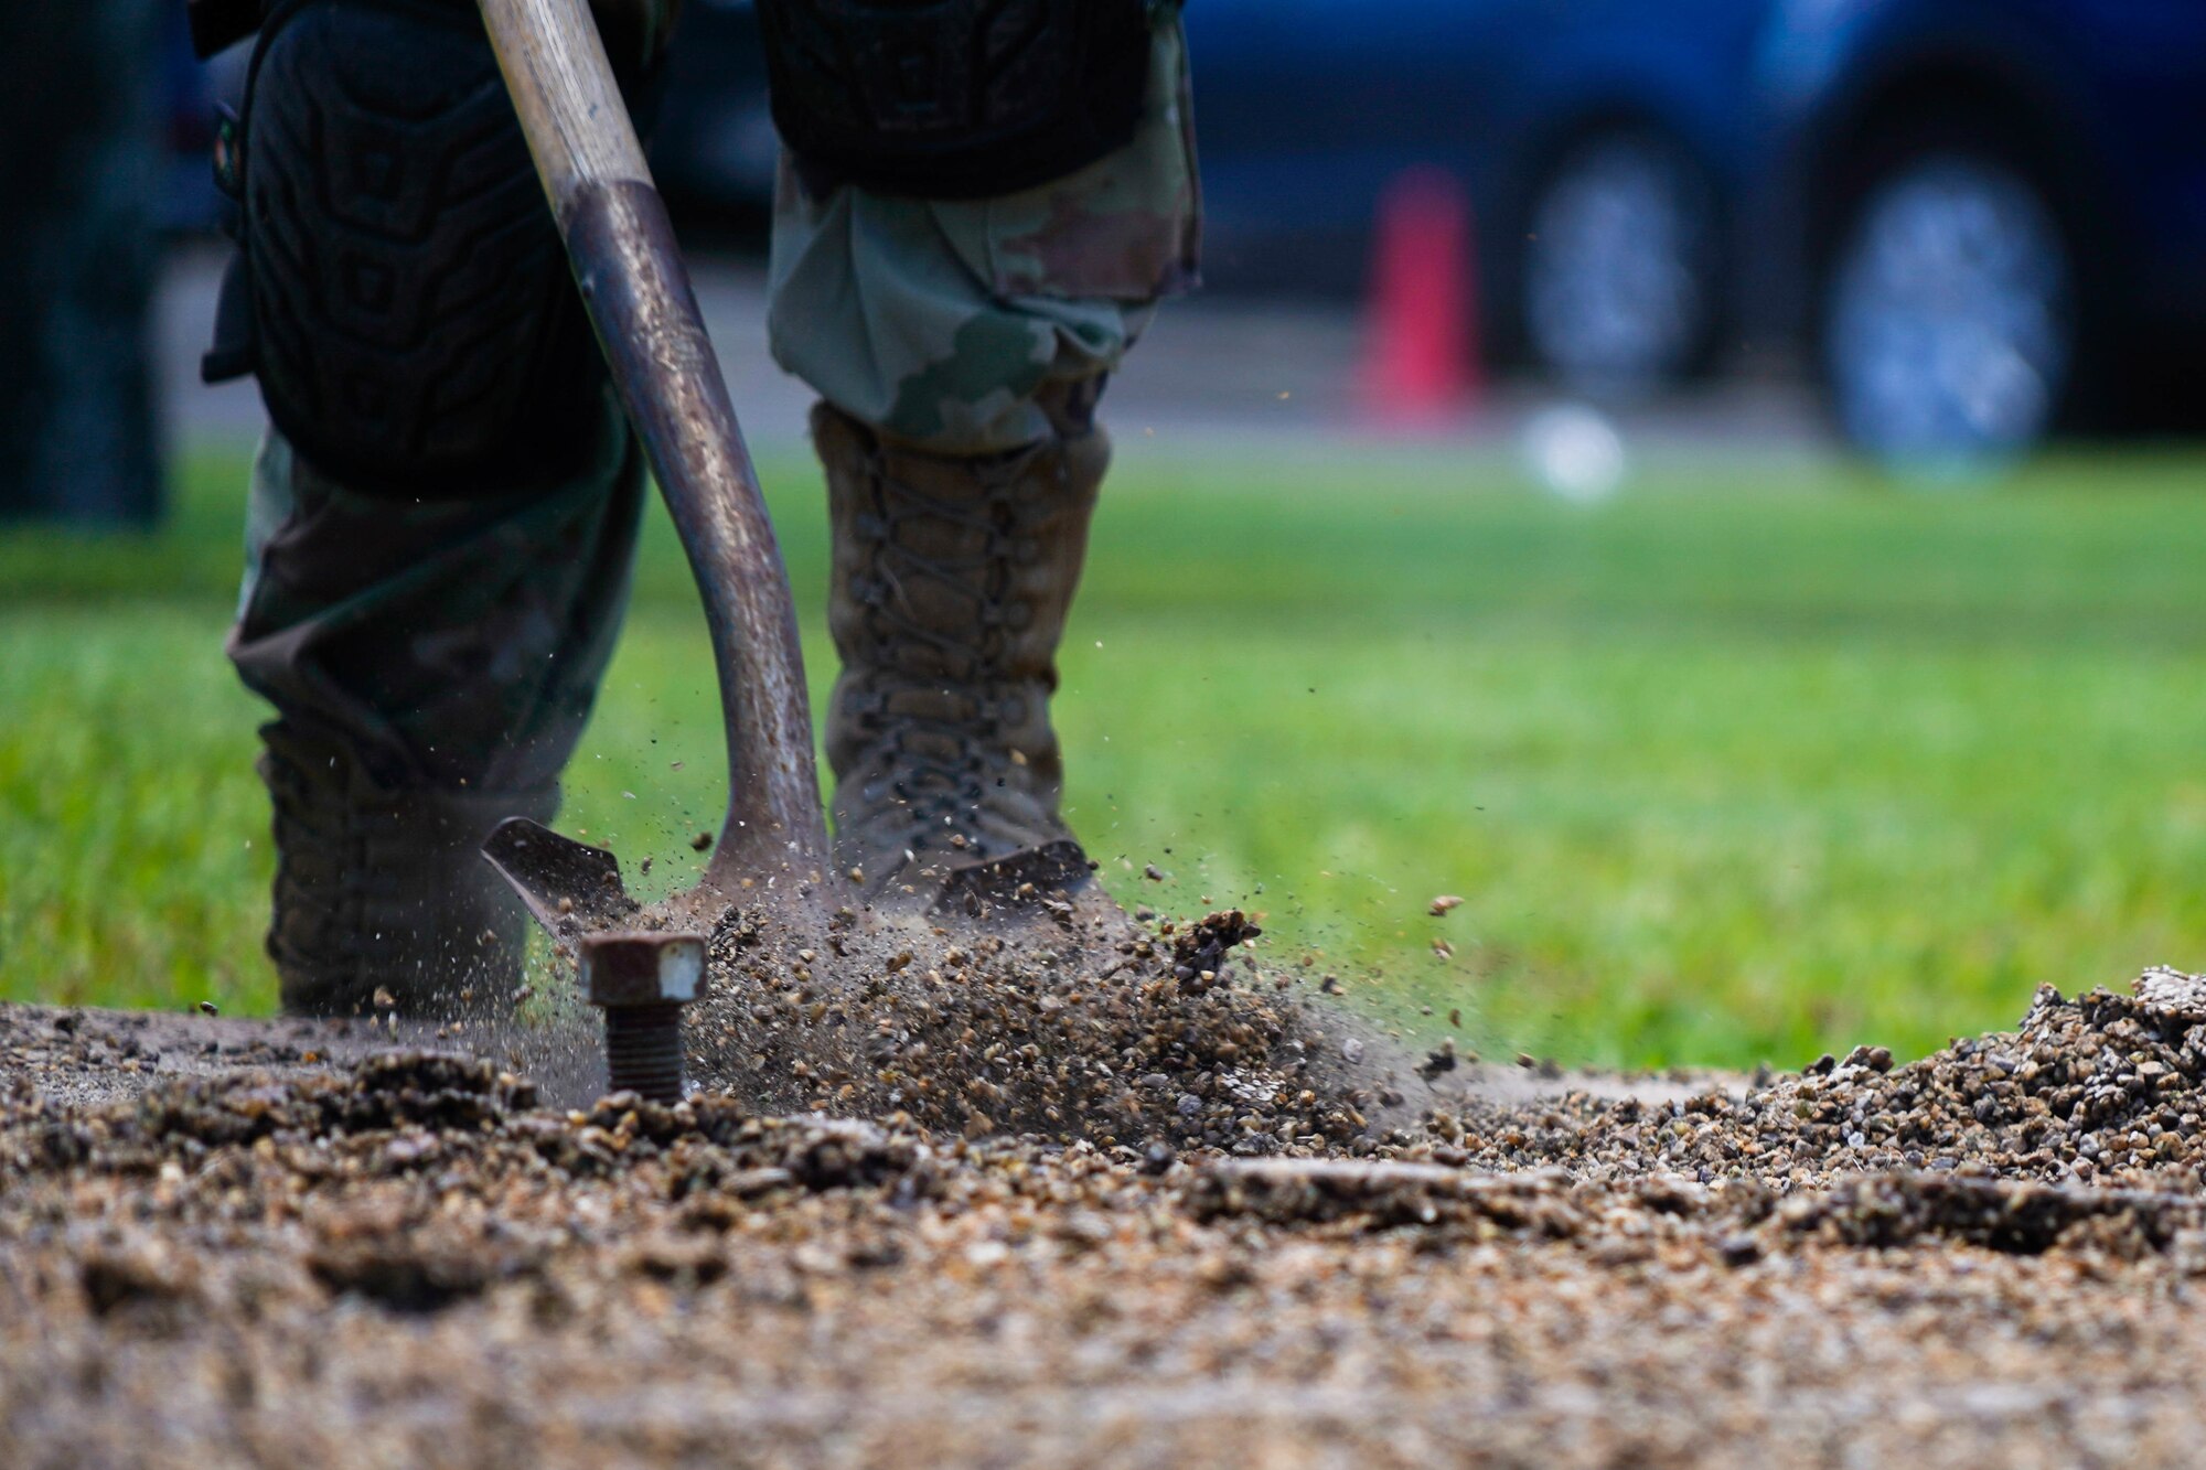
[[269, 958], [289, 1013], [494, 1009], [527, 916], [481, 856], [549, 821], [613, 651], [642, 468], [607, 413], [547, 490], [393, 503], [269, 430], [229, 656], [276, 706]]

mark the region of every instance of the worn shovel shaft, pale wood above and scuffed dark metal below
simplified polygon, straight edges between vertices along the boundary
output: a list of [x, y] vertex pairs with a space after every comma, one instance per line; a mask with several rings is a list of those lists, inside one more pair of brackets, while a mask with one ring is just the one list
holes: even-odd
[[829, 872], [796, 607], [666, 205], [585, 0], [479, 0], [613, 386], [704, 594], [728, 726], [706, 883]]

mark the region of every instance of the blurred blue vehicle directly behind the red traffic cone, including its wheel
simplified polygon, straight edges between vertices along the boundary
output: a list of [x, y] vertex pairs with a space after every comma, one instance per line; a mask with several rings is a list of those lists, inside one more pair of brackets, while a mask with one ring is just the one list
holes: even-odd
[[1189, 0], [1220, 285], [1352, 291], [1414, 166], [1476, 216], [1487, 355], [1579, 388], [1730, 338], [1769, 0]]

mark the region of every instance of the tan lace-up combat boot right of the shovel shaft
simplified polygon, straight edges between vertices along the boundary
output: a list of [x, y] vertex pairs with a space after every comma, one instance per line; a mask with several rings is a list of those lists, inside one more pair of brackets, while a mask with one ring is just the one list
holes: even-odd
[[1048, 700], [1057, 642], [1110, 464], [1094, 384], [1043, 406], [1032, 448], [946, 457], [821, 404], [843, 675], [827, 715], [836, 863], [891, 905], [935, 903], [960, 872], [1015, 856], [1085, 876], [1057, 814]]

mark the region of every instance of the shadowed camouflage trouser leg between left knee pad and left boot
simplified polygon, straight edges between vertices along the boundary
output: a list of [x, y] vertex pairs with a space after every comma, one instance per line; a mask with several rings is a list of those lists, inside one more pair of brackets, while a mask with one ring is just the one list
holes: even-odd
[[607, 400], [593, 464], [483, 501], [346, 490], [269, 430], [229, 658], [377, 781], [527, 790], [558, 777], [613, 653], [644, 466]]

